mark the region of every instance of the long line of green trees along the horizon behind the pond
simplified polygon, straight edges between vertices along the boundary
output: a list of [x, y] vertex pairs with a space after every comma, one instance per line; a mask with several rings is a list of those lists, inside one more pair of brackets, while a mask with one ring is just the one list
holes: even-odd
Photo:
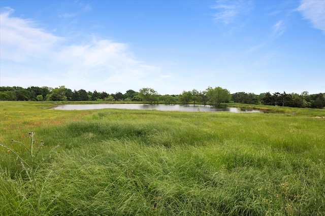
[[68, 89], [64, 85], [58, 88], [49, 87], [0, 87], [0, 100], [2, 101], [142, 101], [149, 104], [204, 104], [220, 106], [221, 103], [235, 102], [243, 104], [262, 104], [288, 107], [323, 108], [325, 106], [325, 93], [311, 94], [307, 91], [297, 94], [270, 92], [255, 95], [253, 93], [230, 92], [221, 87], [208, 87], [204, 91], [193, 89], [183, 91], [178, 95], [159, 95], [152, 88], [142, 88], [139, 92], [127, 90], [124, 94], [116, 92], [87, 92]]

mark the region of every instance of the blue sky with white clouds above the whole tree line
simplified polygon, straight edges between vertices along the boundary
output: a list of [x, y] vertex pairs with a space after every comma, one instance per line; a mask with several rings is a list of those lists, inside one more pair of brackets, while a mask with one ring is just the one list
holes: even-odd
[[0, 85], [325, 92], [325, 1], [0, 2]]

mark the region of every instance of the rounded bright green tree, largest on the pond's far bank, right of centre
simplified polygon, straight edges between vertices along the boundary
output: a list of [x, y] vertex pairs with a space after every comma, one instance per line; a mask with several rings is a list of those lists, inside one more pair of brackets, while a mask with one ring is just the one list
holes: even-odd
[[219, 107], [221, 103], [229, 102], [231, 99], [231, 94], [228, 90], [222, 89], [221, 87], [216, 87], [212, 89], [209, 87], [207, 89], [207, 96], [211, 105]]

